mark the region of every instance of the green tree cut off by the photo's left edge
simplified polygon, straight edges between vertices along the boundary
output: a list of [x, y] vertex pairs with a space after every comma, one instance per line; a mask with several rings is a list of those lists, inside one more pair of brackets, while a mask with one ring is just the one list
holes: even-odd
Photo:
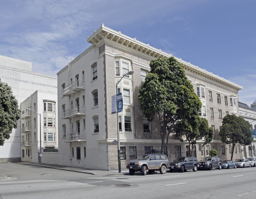
[[18, 101], [13, 96], [11, 87], [0, 82], [0, 146], [4, 145], [4, 140], [10, 138], [12, 129], [17, 128], [19, 118]]

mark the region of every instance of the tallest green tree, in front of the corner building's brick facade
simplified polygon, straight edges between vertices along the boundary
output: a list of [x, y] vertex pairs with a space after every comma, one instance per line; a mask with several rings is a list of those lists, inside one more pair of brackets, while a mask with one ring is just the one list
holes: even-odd
[[149, 65], [151, 70], [139, 88], [138, 101], [148, 121], [158, 118], [163, 152], [177, 124], [194, 112], [198, 114], [202, 103], [174, 57], [155, 59]]

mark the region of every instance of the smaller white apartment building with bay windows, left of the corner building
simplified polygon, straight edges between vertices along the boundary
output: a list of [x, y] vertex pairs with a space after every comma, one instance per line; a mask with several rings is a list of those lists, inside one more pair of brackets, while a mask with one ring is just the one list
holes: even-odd
[[47, 153], [58, 149], [56, 101], [57, 93], [36, 90], [20, 104], [21, 161], [58, 163], [58, 153]]

